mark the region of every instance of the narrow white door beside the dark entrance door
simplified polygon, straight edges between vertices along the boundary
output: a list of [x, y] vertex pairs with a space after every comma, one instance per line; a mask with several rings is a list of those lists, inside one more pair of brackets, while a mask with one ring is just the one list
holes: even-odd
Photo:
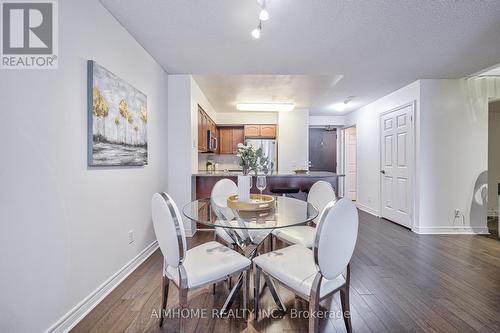
[[357, 199], [357, 159], [356, 159], [356, 127], [349, 127], [345, 133], [345, 196]]

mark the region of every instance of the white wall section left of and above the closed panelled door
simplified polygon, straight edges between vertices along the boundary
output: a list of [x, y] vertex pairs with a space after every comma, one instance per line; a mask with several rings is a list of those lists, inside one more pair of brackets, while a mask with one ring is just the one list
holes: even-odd
[[358, 140], [357, 204], [379, 215], [380, 211], [380, 114], [416, 101], [416, 118], [420, 109], [420, 83], [416, 81], [372, 102], [346, 116], [345, 125], [356, 125]]

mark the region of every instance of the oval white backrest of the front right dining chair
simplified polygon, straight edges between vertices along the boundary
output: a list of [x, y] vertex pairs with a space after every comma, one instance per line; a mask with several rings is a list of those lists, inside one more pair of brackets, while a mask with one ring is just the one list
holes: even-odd
[[318, 223], [314, 260], [326, 279], [339, 276], [351, 261], [358, 238], [358, 211], [348, 198], [330, 202]]

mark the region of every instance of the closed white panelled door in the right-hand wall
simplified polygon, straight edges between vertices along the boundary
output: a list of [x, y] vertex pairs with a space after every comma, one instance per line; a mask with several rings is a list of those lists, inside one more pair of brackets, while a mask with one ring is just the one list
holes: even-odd
[[380, 116], [382, 217], [412, 226], [413, 104]]

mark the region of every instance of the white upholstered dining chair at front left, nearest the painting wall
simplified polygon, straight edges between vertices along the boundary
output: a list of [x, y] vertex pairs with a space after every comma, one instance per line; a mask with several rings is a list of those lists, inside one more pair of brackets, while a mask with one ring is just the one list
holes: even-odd
[[[162, 313], [167, 306], [170, 280], [179, 289], [180, 313], [187, 308], [188, 291], [225, 280], [228, 276], [243, 272], [247, 285], [251, 261], [236, 251], [210, 241], [187, 250], [186, 234], [177, 205], [167, 193], [155, 193], [151, 199], [153, 226], [164, 257], [162, 284]], [[243, 310], [246, 313], [248, 288], [243, 288]], [[184, 332], [184, 320], [179, 316], [180, 331]]]

